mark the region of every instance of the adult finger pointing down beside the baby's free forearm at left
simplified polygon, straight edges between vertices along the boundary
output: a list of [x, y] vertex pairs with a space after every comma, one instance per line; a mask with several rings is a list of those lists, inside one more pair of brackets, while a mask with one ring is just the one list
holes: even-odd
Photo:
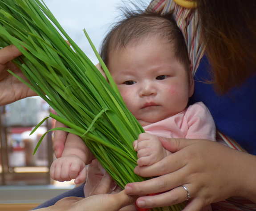
[[[56, 121], [55, 127], [67, 127], [65, 124]], [[54, 131], [53, 150], [56, 158], [60, 158], [64, 150], [64, 145], [68, 136], [66, 131]]]

